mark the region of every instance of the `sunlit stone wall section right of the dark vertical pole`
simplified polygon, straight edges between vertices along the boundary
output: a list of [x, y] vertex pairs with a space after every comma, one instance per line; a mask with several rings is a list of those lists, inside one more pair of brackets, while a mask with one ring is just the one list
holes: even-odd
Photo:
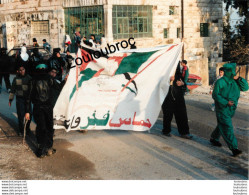
[[[216, 63], [222, 62], [221, 0], [184, 1], [184, 53], [187, 60], [208, 58], [210, 81], [214, 79]], [[200, 36], [200, 23], [209, 24], [209, 36]]]

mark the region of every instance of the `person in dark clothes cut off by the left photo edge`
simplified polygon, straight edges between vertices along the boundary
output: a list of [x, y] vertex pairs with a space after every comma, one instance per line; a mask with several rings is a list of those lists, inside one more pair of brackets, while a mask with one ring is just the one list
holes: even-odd
[[7, 48], [0, 48], [0, 93], [2, 91], [2, 79], [3, 78], [4, 78], [4, 82], [5, 82], [6, 89], [8, 92], [10, 92], [10, 88], [11, 88], [8, 55], [6, 51], [7, 51]]

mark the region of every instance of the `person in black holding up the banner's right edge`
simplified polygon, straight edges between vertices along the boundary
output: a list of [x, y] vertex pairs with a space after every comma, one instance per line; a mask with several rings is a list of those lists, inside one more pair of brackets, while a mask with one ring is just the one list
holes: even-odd
[[[181, 66], [183, 64], [181, 63]], [[184, 67], [180, 67], [180, 63], [177, 66], [175, 76], [170, 78], [173, 84], [169, 87], [169, 92], [163, 102], [163, 135], [168, 137], [171, 136], [171, 121], [173, 115], [175, 115], [175, 120], [178, 128], [178, 132], [182, 138], [191, 139], [193, 136], [189, 133], [188, 126], [188, 116], [186, 110], [186, 104], [184, 99], [184, 93], [186, 90], [185, 81], [187, 78], [185, 76], [186, 70], [184, 72]]]

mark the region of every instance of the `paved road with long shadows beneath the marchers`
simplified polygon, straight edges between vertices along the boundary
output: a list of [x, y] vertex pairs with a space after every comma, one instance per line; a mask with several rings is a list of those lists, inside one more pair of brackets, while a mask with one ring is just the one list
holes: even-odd
[[[15, 102], [0, 95], [0, 179], [248, 179], [248, 105], [238, 108], [235, 133], [244, 154], [233, 158], [224, 144], [216, 148], [208, 138], [216, 125], [207, 95], [186, 96], [193, 140], [162, 136], [162, 115], [150, 132], [57, 130], [51, 157], [38, 159], [35, 138], [16, 136]], [[175, 126], [175, 124], [173, 124]], [[32, 124], [32, 129], [35, 125]], [[8, 138], [7, 138], [8, 137]], [[243, 143], [242, 143], [243, 142]]]

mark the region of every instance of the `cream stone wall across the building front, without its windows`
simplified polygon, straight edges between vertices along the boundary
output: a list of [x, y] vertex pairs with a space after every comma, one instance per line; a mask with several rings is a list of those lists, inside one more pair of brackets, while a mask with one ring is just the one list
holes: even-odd
[[[184, 33], [177, 38], [177, 28], [181, 28], [181, 0], [14, 0], [13, 3], [0, 5], [0, 24], [17, 22], [16, 44], [31, 44], [35, 35], [31, 34], [32, 20], [49, 20], [49, 35], [35, 36], [39, 44], [46, 38], [52, 47], [63, 47], [65, 36], [64, 10], [66, 7], [103, 5], [105, 17], [105, 36], [113, 41], [112, 5], [151, 5], [153, 12], [153, 36], [136, 38], [138, 48], [153, 47], [170, 43], [184, 42], [184, 58], [193, 61], [200, 69], [198, 74], [206, 75], [209, 67], [211, 80], [214, 77], [216, 63], [222, 62], [222, 3], [223, 0], [184, 0]], [[169, 6], [175, 6], [175, 15], [169, 14]], [[209, 24], [209, 36], [200, 36], [200, 23]], [[164, 28], [169, 29], [168, 38], [164, 38]], [[0, 38], [3, 36], [0, 35]], [[114, 40], [121, 41], [121, 40]], [[12, 41], [13, 42], [13, 41]], [[208, 59], [208, 60], [207, 60]], [[191, 63], [189, 63], [191, 64]], [[195, 72], [191, 65], [190, 72]], [[203, 73], [201, 72], [203, 71]]]

